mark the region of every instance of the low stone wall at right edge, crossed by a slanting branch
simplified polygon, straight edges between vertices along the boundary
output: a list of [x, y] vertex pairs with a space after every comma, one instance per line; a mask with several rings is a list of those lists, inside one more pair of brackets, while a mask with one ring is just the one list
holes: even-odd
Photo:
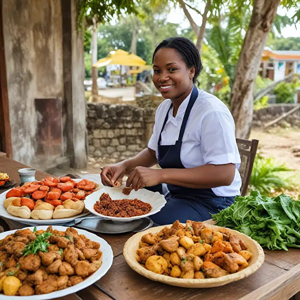
[[[283, 113], [287, 113], [289, 110], [292, 110], [297, 105], [298, 104], [276, 104], [270, 105], [260, 110], [255, 110], [253, 112], [252, 125], [254, 127], [262, 126], [263, 124], [273, 121], [274, 119], [280, 117]], [[291, 115], [286, 116], [276, 125], [300, 126], [300, 110], [296, 110]]]

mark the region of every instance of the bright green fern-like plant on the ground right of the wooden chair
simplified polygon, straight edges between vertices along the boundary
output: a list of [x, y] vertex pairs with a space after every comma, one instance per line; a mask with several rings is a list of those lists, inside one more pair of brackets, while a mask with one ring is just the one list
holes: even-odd
[[270, 195], [273, 190], [292, 189], [291, 180], [284, 179], [281, 172], [292, 171], [285, 164], [278, 164], [274, 158], [264, 158], [256, 154], [250, 178], [249, 189]]

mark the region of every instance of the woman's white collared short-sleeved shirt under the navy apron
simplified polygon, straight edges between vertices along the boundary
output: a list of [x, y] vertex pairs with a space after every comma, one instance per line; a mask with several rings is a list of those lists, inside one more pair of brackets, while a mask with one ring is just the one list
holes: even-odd
[[[238, 168], [241, 158], [235, 140], [235, 125], [226, 105], [214, 95], [199, 90], [199, 95], [192, 107], [182, 138], [180, 159], [185, 168], [199, 167], [205, 164], [235, 164], [235, 176], [229, 186], [214, 187], [217, 196], [229, 197], [240, 195], [241, 176]], [[184, 112], [190, 95], [179, 106], [176, 117], [173, 107], [168, 121], [161, 133], [161, 145], [174, 145], [179, 137]], [[166, 99], [156, 110], [153, 134], [148, 147], [155, 150], [158, 158], [158, 138], [171, 100]], [[163, 184], [166, 194], [166, 184]]]

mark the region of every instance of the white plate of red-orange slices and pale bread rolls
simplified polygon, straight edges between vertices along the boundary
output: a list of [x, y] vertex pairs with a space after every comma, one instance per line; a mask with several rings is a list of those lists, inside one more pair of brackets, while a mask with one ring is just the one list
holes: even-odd
[[69, 176], [26, 182], [0, 195], [0, 215], [29, 225], [67, 223], [89, 213], [83, 200], [98, 184]]

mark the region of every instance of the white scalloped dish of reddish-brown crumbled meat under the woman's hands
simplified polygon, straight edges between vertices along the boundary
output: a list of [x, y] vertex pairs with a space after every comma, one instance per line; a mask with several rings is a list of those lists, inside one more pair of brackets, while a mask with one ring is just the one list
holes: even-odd
[[160, 193], [146, 189], [104, 187], [83, 201], [92, 214], [114, 222], [131, 222], [157, 213], [167, 203]]

